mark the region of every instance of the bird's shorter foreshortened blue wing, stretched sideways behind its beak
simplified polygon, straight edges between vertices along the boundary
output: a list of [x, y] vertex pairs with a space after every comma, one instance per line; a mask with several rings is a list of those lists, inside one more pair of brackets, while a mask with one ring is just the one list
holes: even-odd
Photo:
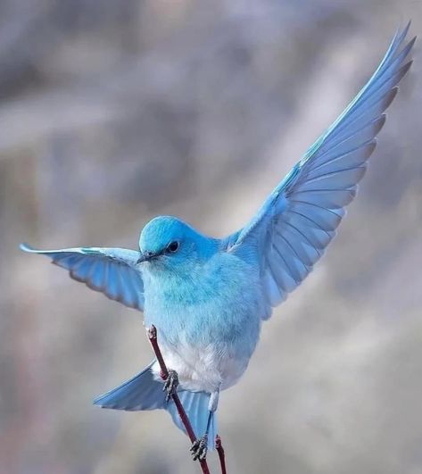
[[21, 244], [21, 250], [50, 257], [53, 263], [70, 271], [70, 277], [101, 291], [130, 308], [144, 310], [144, 283], [136, 268], [139, 253], [123, 248], [64, 248], [36, 250]]

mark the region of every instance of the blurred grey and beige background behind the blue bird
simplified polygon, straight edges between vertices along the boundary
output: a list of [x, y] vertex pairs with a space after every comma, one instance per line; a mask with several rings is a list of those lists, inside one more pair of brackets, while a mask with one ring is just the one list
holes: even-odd
[[[91, 403], [152, 358], [142, 314], [22, 254], [241, 227], [422, 2], [0, 2], [0, 472], [199, 472], [165, 412]], [[230, 474], [422, 472], [420, 61], [360, 195], [220, 400]], [[216, 455], [210, 455], [212, 472]]]

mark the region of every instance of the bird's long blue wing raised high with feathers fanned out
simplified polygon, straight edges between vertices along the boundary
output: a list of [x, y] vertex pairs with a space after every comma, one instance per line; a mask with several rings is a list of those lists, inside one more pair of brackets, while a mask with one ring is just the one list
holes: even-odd
[[[253, 219], [226, 239], [229, 252], [258, 245], [262, 282], [270, 306], [281, 303], [310, 273], [335, 237], [344, 207], [356, 195], [385, 109], [410, 68], [403, 46], [410, 24], [397, 31], [368, 83], [335, 123], [310, 146], [302, 160], [269, 195]], [[267, 314], [269, 317], [270, 309]]]

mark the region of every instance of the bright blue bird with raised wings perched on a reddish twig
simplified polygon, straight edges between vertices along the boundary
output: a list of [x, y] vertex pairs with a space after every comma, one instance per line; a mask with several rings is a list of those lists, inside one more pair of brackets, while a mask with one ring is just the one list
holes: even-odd
[[416, 37], [397, 29], [384, 59], [337, 120], [310, 146], [252, 219], [228, 237], [208, 237], [173, 216], [142, 229], [137, 250], [73, 247], [37, 250], [112, 300], [144, 312], [160, 335], [169, 368], [153, 360], [95, 405], [164, 409], [184, 429], [178, 393], [194, 428], [191, 451], [203, 460], [218, 432], [219, 394], [243, 376], [263, 321], [298, 287], [333, 240], [376, 148], [398, 83], [410, 69]]

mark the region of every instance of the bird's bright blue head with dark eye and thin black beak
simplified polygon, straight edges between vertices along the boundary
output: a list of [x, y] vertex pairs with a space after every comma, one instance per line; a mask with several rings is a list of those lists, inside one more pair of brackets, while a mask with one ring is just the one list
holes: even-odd
[[208, 260], [216, 248], [215, 239], [204, 237], [186, 222], [159, 216], [141, 232], [137, 262], [148, 270], [188, 270], [189, 266]]

